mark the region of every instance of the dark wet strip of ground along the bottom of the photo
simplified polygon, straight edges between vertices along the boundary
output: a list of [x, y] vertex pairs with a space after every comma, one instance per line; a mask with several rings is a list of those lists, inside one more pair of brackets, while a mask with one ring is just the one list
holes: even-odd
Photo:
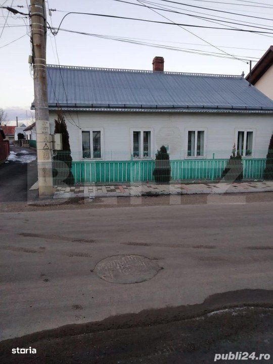
[[[251, 292], [240, 293], [243, 298]], [[255, 294], [266, 297], [263, 291]], [[250, 355], [244, 362], [272, 362], [272, 309], [245, 306], [188, 319], [179, 317], [181, 310], [146, 311], [127, 315], [127, 321], [121, 316], [103, 324], [8, 340], [0, 343], [0, 360], [5, 364], [211, 364], [215, 360], [228, 364], [242, 362], [232, 360], [239, 355], [244, 359]], [[12, 353], [29, 346], [36, 354]]]

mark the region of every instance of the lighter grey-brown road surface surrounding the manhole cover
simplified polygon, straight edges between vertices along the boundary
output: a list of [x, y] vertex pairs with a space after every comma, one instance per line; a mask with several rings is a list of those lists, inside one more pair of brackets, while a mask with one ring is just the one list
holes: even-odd
[[[143, 309], [272, 289], [272, 202], [1, 213], [1, 339]], [[141, 255], [157, 274], [107, 282], [96, 264]], [[254, 302], [255, 303], [255, 302]]]

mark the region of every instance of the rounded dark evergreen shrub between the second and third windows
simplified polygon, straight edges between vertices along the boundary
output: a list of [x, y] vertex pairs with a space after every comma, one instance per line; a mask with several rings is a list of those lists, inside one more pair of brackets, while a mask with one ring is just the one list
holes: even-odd
[[156, 153], [153, 175], [157, 184], [168, 184], [170, 182], [170, 157], [165, 146], [162, 146]]

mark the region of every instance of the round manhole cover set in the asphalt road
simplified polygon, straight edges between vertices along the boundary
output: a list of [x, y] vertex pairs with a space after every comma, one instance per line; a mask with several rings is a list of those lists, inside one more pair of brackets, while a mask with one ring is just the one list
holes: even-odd
[[95, 273], [112, 283], [138, 283], [153, 278], [160, 267], [155, 260], [142, 255], [114, 255], [99, 261]]

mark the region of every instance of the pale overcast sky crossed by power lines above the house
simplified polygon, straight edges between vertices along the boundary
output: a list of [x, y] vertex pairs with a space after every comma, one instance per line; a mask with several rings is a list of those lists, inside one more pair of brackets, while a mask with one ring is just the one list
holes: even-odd
[[[124, 1], [141, 4], [138, 0]], [[48, 0], [45, 5], [47, 9], [56, 9], [56, 11], [51, 12], [51, 16], [47, 11], [48, 22], [53, 27], [59, 26], [61, 19], [67, 12], [84, 12], [169, 22], [169, 20], [162, 17], [164, 15], [170, 21], [176, 23], [224, 27], [223, 23], [215, 24], [189, 16], [190, 14], [211, 18], [213, 15], [214, 21], [258, 23], [260, 24], [258, 26], [266, 28], [260, 29], [261, 31], [272, 30], [272, 34], [260, 35], [249, 32], [185, 26], [184, 28], [187, 31], [177, 25], [79, 14], [68, 15], [61, 26], [63, 29], [85, 33], [138, 38], [142, 42], [161, 44], [172, 48], [216, 52], [223, 56], [226, 56], [223, 53], [226, 52], [232, 56], [243, 56], [246, 59], [258, 60], [273, 44], [273, 20], [257, 19], [273, 19], [273, 0], [263, 0], [263, 4], [255, 2], [255, 0], [219, 0], [218, 2], [216, 0], [174, 0], [176, 3], [183, 3], [184, 5], [163, 0], [146, 1], [150, 2], [150, 4], [145, 3], [147, 6], [169, 7], [169, 10], [179, 11], [184, 14], [156, 10], [160, 15], [147, 7], [125, 4], [114, 0]], [[1, 6], [12, 6], [26, 13], [28, 12], [26, 7], [28, 3], [29, 0], [0, 0]], [[194, 8], [187, 5], [244, 14], [245, 16]], [[257, 5], [259, 6], [257, 7]], [[19, 9], [17, 6], [23, 6], [24, 8]], [[16, 116], [18, 116], [19, 124], [20, 122], [29, 124], [32, 122], [30, 105], [33, 101], [33, 79], [28, 64], [28, 56], [31, 54], [30, 37], [27, 34], [29, 32], [29, 23], [28, 19], [22, 16], [14, 16], [11, 13], [7, 18], [8, 13], [5, 9], [0, 10], [0, 34], [2, 33], [0, 36], [0, 108], [6, 110], [10, 125], [14, 124]], [[216, 19], [216, 16], [221, 18]], [[229, 20], [224, 18], [229, 18]], [[228, 23], [226, 24], [228, 25]], [[230, 24], [230, 26], [253, 30], [253, 28], [236, 24]], [[21, 36], [21, 39], [17, 39]], [[13, 40], [15, 41], [6, 45]], [[207, 42], [218, 49], [211, 47]], [[53, 36], [50, 31], [48, 32], [48, 64], [60, 63], [61, 65], [151, 70], [152, 60], [155, 56], [164, 57], [165, 71], [237, 75], [242, 74], [243, 71], [247, 75], [249, 71], [249, 65], [246, 61], [235, 58], [226, 59], [177, 50], [159, 49], [147, 45], [131, 44], [61, 30], [56, 36]], [[255, 65], [255, 62], [252, 64]]]

